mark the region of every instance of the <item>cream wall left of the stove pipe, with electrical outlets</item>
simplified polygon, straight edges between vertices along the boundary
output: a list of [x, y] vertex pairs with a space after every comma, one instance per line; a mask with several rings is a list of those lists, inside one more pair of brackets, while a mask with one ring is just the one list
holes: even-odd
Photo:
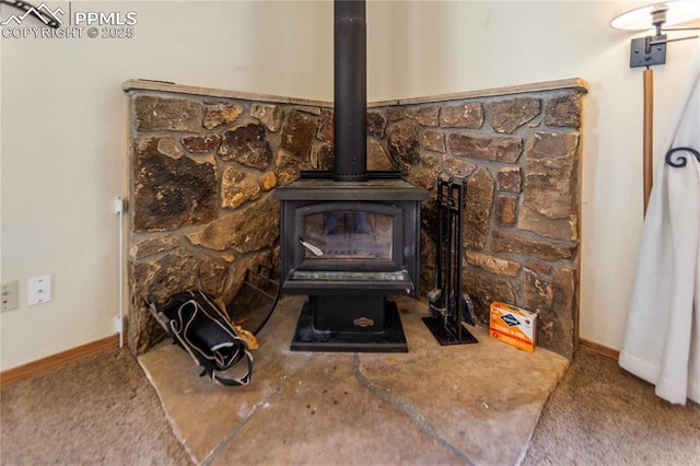
[[[136, 11], [138, 24], [133, 38], [0, 39], [1, 279], [20, 282], [20, 307], [0, 315], [2, 370], [114, 334], [126, 80], [332, 94], [332, 40], [319, 39], [332, 37], [330, 3], [73, 1], [72, 9]], [[0, 16], [9, 14], [2, 5]], [[27, 279], [46, 273], [52, 301], [27, 306]]]

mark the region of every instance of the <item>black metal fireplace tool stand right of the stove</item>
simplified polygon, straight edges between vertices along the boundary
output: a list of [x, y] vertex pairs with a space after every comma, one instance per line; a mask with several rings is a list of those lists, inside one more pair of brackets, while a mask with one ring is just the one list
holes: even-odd
[[464, 179], [438, 179], [435, 288], [428, 293], [430, 317], [423, 323], [442, 346], [477, 343], [463, 325], [475, 325], [474, 304], [462, 288]]

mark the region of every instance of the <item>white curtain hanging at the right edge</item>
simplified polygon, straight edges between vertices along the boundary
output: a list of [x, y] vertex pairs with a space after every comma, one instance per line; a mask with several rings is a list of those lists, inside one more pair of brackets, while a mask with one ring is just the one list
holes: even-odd
[[[700, 403], [700, 44], [658, 162], [619, 364], [674, 404]], [[686, 149], [680, 149], [686, 148]]]

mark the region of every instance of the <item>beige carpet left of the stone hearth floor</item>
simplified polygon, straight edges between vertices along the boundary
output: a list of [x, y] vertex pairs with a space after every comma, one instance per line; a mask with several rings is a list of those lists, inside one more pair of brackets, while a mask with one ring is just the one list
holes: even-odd
[[2, 466], [191, 463], [127, 349], [3, 386], [0, 406]]

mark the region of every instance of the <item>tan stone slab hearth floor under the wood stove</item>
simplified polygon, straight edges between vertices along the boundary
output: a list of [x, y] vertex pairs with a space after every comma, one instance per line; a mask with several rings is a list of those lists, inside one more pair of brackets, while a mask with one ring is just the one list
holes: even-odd
[[139, 361], [197, 464], [514, 465], [569, 361], [468, 327], [441, 347], [421, 300], [398, 303], [408, 353], [290, 351], [305, 296], [282, 298], [258, 334], [254, 377], [222, 387], [164, 342]]

